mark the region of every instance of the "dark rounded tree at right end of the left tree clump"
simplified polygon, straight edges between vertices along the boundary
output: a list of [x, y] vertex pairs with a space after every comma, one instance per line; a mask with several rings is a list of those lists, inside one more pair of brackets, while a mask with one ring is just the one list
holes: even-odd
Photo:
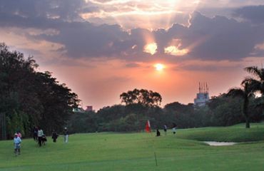
[[56, 78], [52, 78], [51, 73], [36, 73], [36, 94], [41, 100], [43, 113], [39, 125], [45, 128], [46, 133], [52, 130], [61, 130], [70, 117], [73, 108], [78, 105], [78, 95], [72, 93], [66, 85], [59, 84]]

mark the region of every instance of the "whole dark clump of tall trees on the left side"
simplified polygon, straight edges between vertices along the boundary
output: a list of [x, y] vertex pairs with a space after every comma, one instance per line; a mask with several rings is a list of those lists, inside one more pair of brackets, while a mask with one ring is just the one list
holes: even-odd
[[49, 71], [36, 71], [38, 64], [32, 57], [9, 51], [0, 43], [0, 138], [11, 138], [16, 131], [31, 135], [34, 126], [46, 134], [61, 130], [78, 95], [60, 84]]

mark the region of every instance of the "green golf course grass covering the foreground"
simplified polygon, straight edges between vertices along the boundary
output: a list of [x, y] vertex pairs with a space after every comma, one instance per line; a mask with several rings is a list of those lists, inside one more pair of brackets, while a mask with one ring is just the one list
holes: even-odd
[[[161, 132], [162, 133], [162, 132]], [[11, 140], [0, 141], [0, 170], [263, 170], [264, 124], [153, 133], [90, 133], [59, 137], [43, 147], [23, 140], [15, 157]], [[211, 147], [198, 140], [243, 142]], [[154, 157], [156, 153], [158, 166]]]

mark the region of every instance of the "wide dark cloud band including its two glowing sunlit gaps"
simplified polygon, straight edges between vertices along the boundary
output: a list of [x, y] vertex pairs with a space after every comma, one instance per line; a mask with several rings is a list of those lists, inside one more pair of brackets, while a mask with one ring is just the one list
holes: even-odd
[[108, 57], [144, 61], [166, 59], [171, 55], [239, 60], [254, 54], [255, 46], [264, 42], [263, 26], [251, 26], [223, 16], [208, 18], [198, 12], [192, 14], [190, 26], [175, 24], [168, 30], [157, 31], [142, 28], [124, 31], [118, 25], [96, 26], [86, 21], [17, 17], [0, 22], [2, 26], [43, 28], [39, 33], [29, 31], [28, 37], [59, 43], [63, 48], [58, 51], [64, 51], [71, 58]]

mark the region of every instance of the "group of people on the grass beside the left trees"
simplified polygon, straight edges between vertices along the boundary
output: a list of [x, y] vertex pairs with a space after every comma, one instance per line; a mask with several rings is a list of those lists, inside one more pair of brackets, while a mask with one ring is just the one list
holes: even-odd
[[[59, 134], [56, 133], [55, 130], [53, 130], [51, 138], [53, 139], [53, 142], [56, 142], [57, 138], [59, 137]], [[43, 130], [39, 127], [34, 127], [33, 129], [33, 138], [36, 142], [38, 142], [39, 147], [41, 145], [45, 145], [47, 138], [44, 134]], [[14, 134], [14, 153], [15, 155], [20, 155], [21, 152], [21, 142], [22, 142], [22, 136], [21, 133], [18, 131]], [[64, 128], [64, 143], [68, 142], [68, 130], [67, 128]]]

